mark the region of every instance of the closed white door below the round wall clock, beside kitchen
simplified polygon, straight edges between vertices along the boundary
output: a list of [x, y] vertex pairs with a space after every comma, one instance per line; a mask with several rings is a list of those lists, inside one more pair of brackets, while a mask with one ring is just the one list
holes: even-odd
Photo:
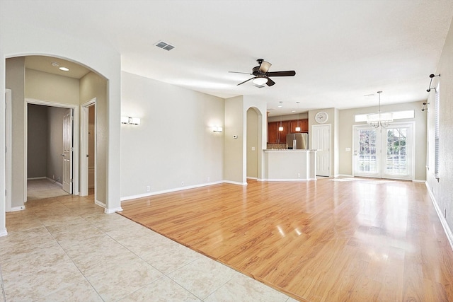
[[311, 127], [311, 149], [316, 152], [316, 175], [331, 176], [331, 125], [314, 124]]

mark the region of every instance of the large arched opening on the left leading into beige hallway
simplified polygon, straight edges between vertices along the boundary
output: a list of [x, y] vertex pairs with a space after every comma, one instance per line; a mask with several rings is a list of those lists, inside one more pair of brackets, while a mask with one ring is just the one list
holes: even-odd
[[[62, 71], [59, 67], [67, 67], [69, 71]], [[89, 158], [85, 149], [79, 148], [79, 142], [88, 135], [88, 127], [80, 128], [79, 108], [93, 99], [97, 100], [97, 107], [96, 127], [92, 128], [98, 132], [94, 199], [106, 207], [108, 80], [93, 69], [67, 59], [30, 55], [6, 59], [6, 88], [11, 89], [13, 95], [11, 108], [7, 108], [11, 113], [9, 149], [13, 167], [11, 174], [6, 175], [6, 182], [11, 182], [11, 199], [7, 200], [11, 204], [7, 208], [11, 211], [24, 208], [30, 178], [59, 183], [70, 194], [87, 191], [84, 185], [88, 183], [79, 180], [88, 179], [88, 175], [81, 175], [88, 173], [81, 167], [88, 165]], [[64, 115], [69, 116], [67, 124], [71, 125], [66, 132], [62, 124]], [[38, 128], [40, 132], [35, 131]], [[62, 147], [63, 132], [71, 134], [66, 136], [71, 144], [66, 151]], [[69, 157], [72, 161], [67, 161]], [[49, 195], [42, 192], [41, 197], [46, 196]]]

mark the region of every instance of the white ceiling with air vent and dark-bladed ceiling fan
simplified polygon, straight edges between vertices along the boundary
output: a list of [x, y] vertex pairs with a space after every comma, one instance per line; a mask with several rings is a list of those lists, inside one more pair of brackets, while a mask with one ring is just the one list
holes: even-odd
[[[11, 1], [25, 24], [114, 47], [122, 70], [222, 98], [255, 95], [270, 115], [426, 100], [453, 1]], [[12, 19], [11, 19], [12, 21]], [[171, 51], [154, 46], [164, 40]], [[257, 88], [256, 59], [295, 70]], [[284, 107], [277, 108], [282, 101]]]

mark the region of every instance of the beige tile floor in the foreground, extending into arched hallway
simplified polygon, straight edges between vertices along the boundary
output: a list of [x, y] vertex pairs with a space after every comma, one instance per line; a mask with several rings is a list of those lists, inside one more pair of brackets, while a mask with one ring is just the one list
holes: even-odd
[[144, 228], [93, 197], [6, 214], [0, 301], [295, 301]]

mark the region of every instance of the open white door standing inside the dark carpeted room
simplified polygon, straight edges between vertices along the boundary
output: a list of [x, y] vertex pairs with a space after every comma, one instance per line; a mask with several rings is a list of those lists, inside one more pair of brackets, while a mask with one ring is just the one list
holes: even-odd
[[63, 119], [63, 190], [72, 194], [72, 110]]

